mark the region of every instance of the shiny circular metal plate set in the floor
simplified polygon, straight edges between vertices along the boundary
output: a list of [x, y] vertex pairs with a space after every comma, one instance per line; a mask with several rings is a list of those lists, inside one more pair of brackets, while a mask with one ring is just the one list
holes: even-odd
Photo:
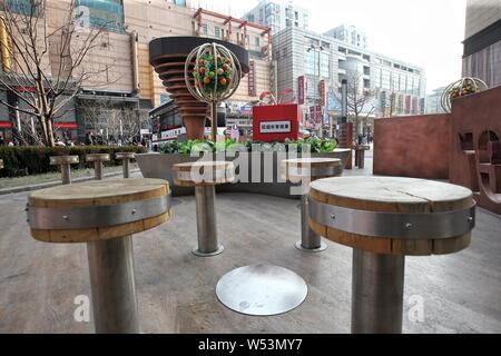
[[255, 316], [289, 312], [299, 306], [308, 288], [292, 270], [274, 265], [253, 265], [224, 275], [216, 286], [220, 303], [232, 310]]

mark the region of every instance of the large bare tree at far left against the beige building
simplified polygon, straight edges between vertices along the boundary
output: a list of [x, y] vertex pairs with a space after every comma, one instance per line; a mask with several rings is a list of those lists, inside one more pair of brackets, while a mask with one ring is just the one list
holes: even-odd
[[11, 0], [0, 3], [0, 24], [9, 39], [1, 41], [1, 50], [12, 62], [11, 71], [0, 76], [0, 83], [14, 93], [24, 108], [3, 100], [0, 103], [33, 116], [41, 132], [40, 144], [55, 146], [55, 119], [68, 111], [68, 102], [84, 81], [108, 70], [109, 66], [90, 69], [85, 65], [89, 52], [99, 46], [98, 39], [106, 24], [82, 27], [84, 12], [75, 0], [69, 0], [68, 7], [60, 9], [62, 16], [48, 23], [47, 2]]

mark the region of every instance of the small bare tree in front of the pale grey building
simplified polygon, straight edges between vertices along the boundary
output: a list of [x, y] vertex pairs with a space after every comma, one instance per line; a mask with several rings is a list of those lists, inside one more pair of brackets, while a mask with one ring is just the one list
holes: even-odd
[[[361, 134], [361, 128], [367, 118], [374, 113], [374, 97], [373, 90], [364, 88], [363, 76], [358, 71], [347, 71], [347, 115], [355, 122], [355, 132]], [[341, 95], [336, 93], [337, 100], [341, 102]]]

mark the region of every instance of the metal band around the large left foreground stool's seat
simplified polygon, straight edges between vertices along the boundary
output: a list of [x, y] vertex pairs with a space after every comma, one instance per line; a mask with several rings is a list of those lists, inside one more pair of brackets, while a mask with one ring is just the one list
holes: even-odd
[[28, 207], [32, 229], [63, 230], [110, 227], [153, 218], [170, 209], [170, 195], [118, 205], [81, 208]]

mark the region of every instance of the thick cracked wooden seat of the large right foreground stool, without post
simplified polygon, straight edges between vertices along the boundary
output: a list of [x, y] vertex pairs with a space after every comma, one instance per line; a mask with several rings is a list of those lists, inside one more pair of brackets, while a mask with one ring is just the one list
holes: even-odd
[[443, 255], [470, 245], [470, 189], [433, 180], [342, 177], [310, 186], [310, 226], [321, 236], [377, 254]]

